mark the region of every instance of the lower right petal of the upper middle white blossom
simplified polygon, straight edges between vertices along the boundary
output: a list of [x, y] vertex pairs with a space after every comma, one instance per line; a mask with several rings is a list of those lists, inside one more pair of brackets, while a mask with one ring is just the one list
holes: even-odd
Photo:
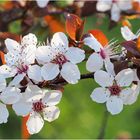
[[71, 84], [76, 84], [80, 79], [78, 66], [70, 62], [65, 63], [61, 69], [61, 76]]

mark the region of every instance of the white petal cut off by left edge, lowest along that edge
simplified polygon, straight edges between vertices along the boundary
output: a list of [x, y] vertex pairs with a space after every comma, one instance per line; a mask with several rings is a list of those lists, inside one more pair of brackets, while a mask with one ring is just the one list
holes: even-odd
[[9, 112], [6, 108], [6, 105], [0, 103], [0, 124], [7, 123]]

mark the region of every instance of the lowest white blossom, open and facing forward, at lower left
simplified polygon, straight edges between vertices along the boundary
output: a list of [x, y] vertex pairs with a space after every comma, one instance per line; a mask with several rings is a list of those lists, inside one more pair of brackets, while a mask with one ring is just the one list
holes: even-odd
[[[29, 85], [19, 102], [13, 105], [17, 115], [26, 116], [30, 114], [26, 123], [30, 134], [38, 133], [44, 120], [52, 122], [59, 117], [60, 110], [57, 105], [62, 97], [58, 90], [41, 90], [36, 85]], [[44, 120], [43, 120], [44, 119]]]

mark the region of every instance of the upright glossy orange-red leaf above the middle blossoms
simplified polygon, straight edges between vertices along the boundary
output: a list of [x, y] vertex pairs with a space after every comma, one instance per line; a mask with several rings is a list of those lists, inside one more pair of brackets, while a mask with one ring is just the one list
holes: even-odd
[[80, 41], [85, 21], [82, 21], [78, 16], [74, 14], [66, 15], [66, 32], [69, 37], [74, 41]]

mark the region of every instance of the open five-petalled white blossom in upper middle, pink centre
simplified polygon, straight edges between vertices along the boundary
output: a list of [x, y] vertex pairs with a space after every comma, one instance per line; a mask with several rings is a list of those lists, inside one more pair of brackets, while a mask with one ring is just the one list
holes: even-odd
[[77, 63], [85, 58], [84, 50], [68, 47], [68, 39], [62, 32], [55, 33], [50, 45], [40, 46], [36, 51], [36, 59], [40, 64], [44, 80], [52, 80], [59, 74], [71, 84], [80, 79]]

